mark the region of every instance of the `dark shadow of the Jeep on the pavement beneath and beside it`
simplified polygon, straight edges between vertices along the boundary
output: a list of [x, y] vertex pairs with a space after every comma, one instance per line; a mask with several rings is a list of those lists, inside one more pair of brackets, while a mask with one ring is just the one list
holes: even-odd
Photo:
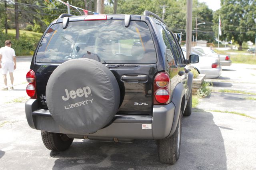
[[174, 165], [158, 161], [154, 140], [133, 143], [83, 140], [73, 142], [64, 152], [51, 152], [57, 158], [53, 169], [226, 169], [226, 153], [220, 128], [212, 113], [194, 112], [183, 117], [180, 159]]

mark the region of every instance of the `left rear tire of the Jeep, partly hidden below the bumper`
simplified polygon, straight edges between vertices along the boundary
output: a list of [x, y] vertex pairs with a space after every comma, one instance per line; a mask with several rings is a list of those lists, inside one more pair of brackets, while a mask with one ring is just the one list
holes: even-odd
[[69, 138], [66, 134], [41, 131], [44, 146], [52, 151], [63, 151], [69, 148], [73, 142], [73, 138]]

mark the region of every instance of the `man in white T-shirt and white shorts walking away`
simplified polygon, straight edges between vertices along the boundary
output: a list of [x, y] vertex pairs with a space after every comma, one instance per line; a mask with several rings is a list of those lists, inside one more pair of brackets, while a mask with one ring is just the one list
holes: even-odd
[[[2, 74], [4, 78], [4, 88], [2, 90], [8, 90], [7, 86], [7, 73], [9, 71], [11, 78], [11, 87], [13, 90], [13, 71], [16, 69], [16, 55], [12, 47], [12, 42], [10, 40], [5, 41], [5, 47], [0, 48], [0, 68], [2, 68]], [[2, 63], [1, 63], [2, 61]]]

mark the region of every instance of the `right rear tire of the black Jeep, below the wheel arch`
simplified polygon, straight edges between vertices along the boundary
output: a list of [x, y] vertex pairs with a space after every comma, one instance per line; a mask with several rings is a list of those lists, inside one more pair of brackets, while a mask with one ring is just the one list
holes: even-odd
[[170, 138], [157, 140], [159, 161], [166, 164], [175, 164], [180, 157], [182, 113], [174, 134]]

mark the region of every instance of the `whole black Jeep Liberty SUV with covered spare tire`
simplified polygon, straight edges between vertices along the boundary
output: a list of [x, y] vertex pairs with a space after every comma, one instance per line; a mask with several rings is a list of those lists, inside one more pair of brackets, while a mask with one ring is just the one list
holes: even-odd
[[[152, 17], [150, 17], [152, 16]], [[44, 32], [26, 75], [31, 128], [49, 150], [74, 138], [156, 140], [159, 160], [180, 154], [191, 114], [193, 74], [174, 34], [156, 14], [62, 14]]]

